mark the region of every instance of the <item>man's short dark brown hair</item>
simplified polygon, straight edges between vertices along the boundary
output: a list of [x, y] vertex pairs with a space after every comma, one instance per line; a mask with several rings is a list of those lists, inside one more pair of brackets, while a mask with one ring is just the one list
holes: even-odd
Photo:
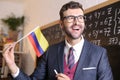
[[77, 9], [77, 8], [80, 8], [80, 9], [83, 10], [82, 4], [80, 4], [79, 2], [75, 2], [75, 1], [70, 1], [70, 2], [68, 2], [66, 4], [64, 4], [62, 6], [62, 8], [60, 9], [60, 12], [59, 12], [60, 20], [63, 20], [63, 17], [64, 17], [63, 12], [64, 11], [66, 11], [68, 9]]

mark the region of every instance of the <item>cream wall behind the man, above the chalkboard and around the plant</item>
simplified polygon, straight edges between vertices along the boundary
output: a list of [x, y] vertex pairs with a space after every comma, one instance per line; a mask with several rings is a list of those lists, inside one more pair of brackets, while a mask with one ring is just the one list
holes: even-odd
[[[0, 0], [0, 19], [11, 12], [17, 16], [25, 15], [24, 35], [36, 26], [43, 26], [59, 20], [61, 5], [71, 0]], [[107, 0], [74, 0], [84, 5], [84, 9]], [[0, 23], [0, 27], [1, 27]], [[24, 39], [23, 70], [31, 74], [35, 67], [35, 54], [27, 39]]]

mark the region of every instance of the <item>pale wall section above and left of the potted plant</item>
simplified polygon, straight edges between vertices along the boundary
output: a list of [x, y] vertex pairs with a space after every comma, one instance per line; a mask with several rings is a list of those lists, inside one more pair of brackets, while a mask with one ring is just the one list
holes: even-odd
[[[24, 12], [24, 5], [20, 1], [8, 1], [8, 0], [0, 0], [0, 19], [6, 18], [11, 15], [15, 15], [16, 17], [22, 16]], [[2, 24], [0, 20], [0, 30], [3, 29], [5, 34], [7, 35], [8, 27]]]

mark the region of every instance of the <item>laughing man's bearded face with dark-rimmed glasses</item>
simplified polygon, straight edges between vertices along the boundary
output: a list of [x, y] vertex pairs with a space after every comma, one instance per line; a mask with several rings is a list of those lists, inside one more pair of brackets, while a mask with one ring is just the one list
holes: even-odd
[[84, 13], [78, 9], [68, 9], [64, 13], [64, 20], [61, 23], [63, 31], [66, 33], [68, 38], [78, 39], [84, 31]]

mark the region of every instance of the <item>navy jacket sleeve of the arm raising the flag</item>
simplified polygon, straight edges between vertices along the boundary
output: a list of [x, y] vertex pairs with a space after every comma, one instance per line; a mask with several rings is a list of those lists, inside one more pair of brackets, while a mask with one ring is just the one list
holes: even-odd
[[13, 80], [46, 80], [46, 54], [44, 53], [40, 58], [38, 65], [31, 76], [25, 74], [22, 70], [20, 70], [19, 75]]

